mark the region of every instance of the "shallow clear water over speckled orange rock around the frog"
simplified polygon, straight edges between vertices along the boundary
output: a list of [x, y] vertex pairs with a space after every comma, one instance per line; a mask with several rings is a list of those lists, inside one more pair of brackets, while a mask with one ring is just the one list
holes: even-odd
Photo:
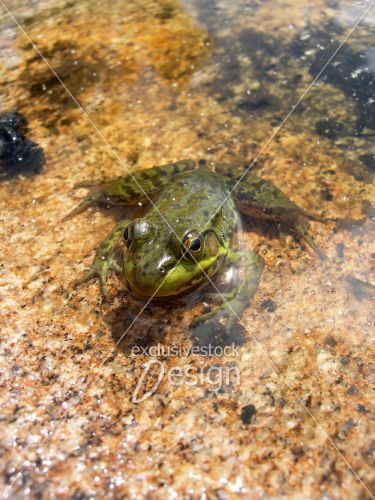
[[[370, 498], [375, 7], [340, 47], [370, 2], [5, 4], [0, 112], [27, 117], [46, 161], [0, 185], [3, 495]], [[114, 276], [107, 302], [71, 286], [122, 214], [63, 221], [73, 187], [184, 158], [251, 164], [327, 219], [310, 225], [324, 262], [244, 224], [266, 268], [230, 332], [192, 333], [174, 304], [137, 318]], [[137, 402], [155, 358], [134, 343], [198, 353], [159, 353]]]

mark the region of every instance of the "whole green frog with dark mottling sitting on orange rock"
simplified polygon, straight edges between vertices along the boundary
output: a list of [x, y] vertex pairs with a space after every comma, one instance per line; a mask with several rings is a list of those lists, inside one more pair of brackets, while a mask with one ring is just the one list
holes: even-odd
[[[243, 172], [230, 165], [218, 165], [213, 172], [203, 161], [187, 160], [139, 170], [101, 185], [69, 215], [93, 203], [147, 203], [145, 193], [154, 204], [144, 217], [116, 225], [99, 246], [90, 270], [76, 284], [98, 277], [106, 295], [107, 273], [114, 270], [135, 295], [167, 299], [209, 283], [219, 270], [241, 267], [240, 283], [223, 295], [210, 294], [220, 306], [195, 322], [218, 311], [229, 323], [240, 317], [258, 287], [264, 261], [251, 250], [231, 247], [239, 214], [283, 224], [322, 256], [305, 222], [320, 219], [255, 175], [247, 174], [236, 186]], [[189, 233], [198, 236], [198, 251], [186, 250], [183, 242]]]

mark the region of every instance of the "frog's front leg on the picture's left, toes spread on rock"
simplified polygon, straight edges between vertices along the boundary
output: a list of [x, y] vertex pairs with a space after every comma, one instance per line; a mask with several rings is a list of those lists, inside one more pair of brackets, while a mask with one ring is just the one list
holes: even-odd
[[122, 220], [116, 224], [115, 228], [106, 236], [96, 251], [94, 261], [90, 269], [73, 286], [78, 286], [92, 278], [99, 278], [102, 295], [107, 295], [107, 274], [109, 271], [121, 272], [118, 264], [118, 254], [120, 242], [124, 229], [129, 225], [129, 220]]

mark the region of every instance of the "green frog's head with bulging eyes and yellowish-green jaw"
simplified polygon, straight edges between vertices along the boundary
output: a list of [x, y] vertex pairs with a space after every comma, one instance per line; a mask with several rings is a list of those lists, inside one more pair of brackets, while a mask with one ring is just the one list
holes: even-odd
[[172, 230], [165, 221], [155, 225], [136, 219], [123, 239], [124, 276], [146, 297], [168, 297], [197, 286], [216, 272], [226, 254], [212, 229], [199, 233], [188, 220]]

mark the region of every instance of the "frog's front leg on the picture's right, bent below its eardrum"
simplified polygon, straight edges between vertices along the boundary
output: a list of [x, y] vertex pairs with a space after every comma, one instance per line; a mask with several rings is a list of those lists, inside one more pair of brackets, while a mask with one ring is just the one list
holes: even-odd
[[215, 302], [221, 302], [221, 305], [196, 318], [192, 326], [207, 319], [226, 317], [226, 324], [230, 327], [241, 318], [243, 311], [254, 296], [264, 267], [263, 257], [251, 250], [231, 250], [227, 257], [227, 266], [228, 268], [231, 266], [243, 268], [244, 275], [239, 285], [235, 282], [233, 288], [225, 293], [210, 294], [210, 298]]

